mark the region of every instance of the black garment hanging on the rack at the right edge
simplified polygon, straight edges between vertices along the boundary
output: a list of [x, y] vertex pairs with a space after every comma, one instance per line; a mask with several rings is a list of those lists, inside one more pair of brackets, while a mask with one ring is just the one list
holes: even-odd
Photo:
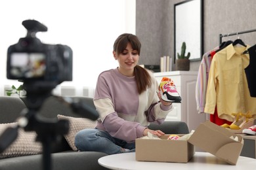
[[245, 74], [248, 82], [248, 88], [251, 97], [256, 97], [256, 44], [248, 48], [249, 65], [245, 68]]

